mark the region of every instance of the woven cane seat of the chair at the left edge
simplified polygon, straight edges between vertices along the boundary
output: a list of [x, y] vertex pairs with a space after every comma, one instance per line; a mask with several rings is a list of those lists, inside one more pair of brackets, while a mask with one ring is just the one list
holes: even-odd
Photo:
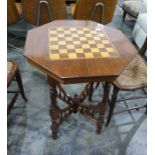
[[12, 81], [17, 70], [17, 64], [14, 61], [7, 61], [7, 85]]

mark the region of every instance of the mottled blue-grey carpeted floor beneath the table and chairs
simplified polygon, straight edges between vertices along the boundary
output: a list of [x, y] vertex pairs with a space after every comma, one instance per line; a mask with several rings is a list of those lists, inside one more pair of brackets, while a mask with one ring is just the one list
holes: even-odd
[[[109, 26], [120, 29], [132, 39], [134, 21], [126, 20], [122, 23], [122, 9], [119, 6]], [[50, 100], [46, 76], [29, 65], [22, 55], [24, 37], [31, 28], [32, 26], [25, 24], [22, 18], [17, 24], [8, 27], [10, 33], [21, 36], [15, 40], [10, 33], [8, 34], [8, 43], [18, 47], [14, 49], [8, 46], [8, 58], [18, 62], [29, 100], [24, 103], [19, 97], [8, 116], [8, 155], [146, 155], [145, 109], [115, 115], [109, 127], [102, 129], [101, 135], [95, 134], [95, 124], [80, 114], [72, 114], [61, 125], [58, 139], [51, 138], [51, 119], [48, 114]], [[65, 89], [73, 95], [74, 92], [79, 92], [83, 85], [66, 85]], [[100, 86], [94, 94], [93, 102], [101, 100], [102, 91]], [[119, 97], [130, 95], [126, 92], [121, 93]], [[143, 92], [135, 92], [134, 95], [143, 95]], [[9, 98], [10, 96], [8, 100]], [[146, 100], [135, 102], [145, 103]], [[127, 104], [135, 102], [128, 101]], [[116, 110], [124, 106], [125, 103], [120, 103]]]

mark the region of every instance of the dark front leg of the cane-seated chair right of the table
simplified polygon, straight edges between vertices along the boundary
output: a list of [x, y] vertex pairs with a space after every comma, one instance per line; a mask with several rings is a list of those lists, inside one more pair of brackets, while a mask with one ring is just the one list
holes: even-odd
[[111, 121], [111, 118], [112, 118], [112, 115], [113, 115], [113, 111], [114, 111], [114, 107], [115, 107], [116, 100], [117, 100], [118, 92], [119, 92], [119, 89], [114, 86], [113, 95], [112, 95], [112, 99], [111, 99], [111, 103], [110, 103], [110, 110], [109, 110], [106, 126], [108, 126], [110, 121]]

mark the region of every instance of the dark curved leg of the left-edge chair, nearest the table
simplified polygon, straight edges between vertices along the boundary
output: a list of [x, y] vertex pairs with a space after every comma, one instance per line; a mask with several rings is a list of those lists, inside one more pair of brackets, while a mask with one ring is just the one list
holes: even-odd
[[23, 82], [22, 82], [21, 75], [20, 75], [18, 69], [17, 69], [17, 72], [16, 72], [16, 79], [17, 79], [17, 84], [18, 84], [18, 87], [20, 89], [20, 93], [21, 93], [22, 98], [25, 101], [28, 101], [27, 98], [26, 98], [26, 96], [25, 96], [25, 92], [24, 92], [24, 88], [23, 88]]

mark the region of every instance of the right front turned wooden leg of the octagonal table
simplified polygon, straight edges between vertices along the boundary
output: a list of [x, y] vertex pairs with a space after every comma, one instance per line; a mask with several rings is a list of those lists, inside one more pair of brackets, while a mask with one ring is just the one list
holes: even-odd
[[106, 82], [104, 86], [103, 99], [102, 102], [99, 104], [99, 119], [97, 122], [97, 130], [96, 130], [97, 134], [101, 133], [102, 124], [104, 123], [104, 113], [109, 98], [109, 91], [110, 91], [110, 83]]

